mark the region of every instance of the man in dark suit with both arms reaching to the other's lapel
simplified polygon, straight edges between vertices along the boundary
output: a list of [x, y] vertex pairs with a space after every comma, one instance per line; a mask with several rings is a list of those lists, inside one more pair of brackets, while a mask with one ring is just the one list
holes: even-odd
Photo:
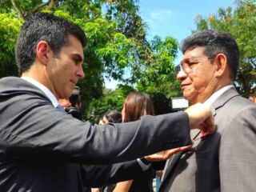
[[[78, 192], [141, 177], [151, 168], [133, 159], [160, 150], [168, 156], [190, 144], [190, 128], [213, 132], [210, 108], [202, 105], [105, 127], [72, 118], [58, 99], [69, 98], [85, 76], [84, 46], [80, 27], [53, 14], [33, 14], [23, 24], [16, 46], [22, 78], [0, 80], [1, 191]], [[110, 163], [117, 164], [88, 166]]]

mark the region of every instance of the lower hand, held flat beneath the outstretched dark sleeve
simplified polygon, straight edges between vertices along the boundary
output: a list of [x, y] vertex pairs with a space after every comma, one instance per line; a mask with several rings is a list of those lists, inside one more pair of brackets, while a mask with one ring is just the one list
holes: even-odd
[[170, 158], [173, 154], [177, 154], [178, 152], [181, 152], [183, 150], [188, 150], [192, 146], [193, 145], [182, 146], [182, 147], [178, 147], [178, 148], [175, 148], [172, 150], [162, 150], [156, 154], [150, 154], [148, 156], [145, 156], [144, 158], [148, 162], [160, 162], [160, 161], [164, 161], [164, 160]]

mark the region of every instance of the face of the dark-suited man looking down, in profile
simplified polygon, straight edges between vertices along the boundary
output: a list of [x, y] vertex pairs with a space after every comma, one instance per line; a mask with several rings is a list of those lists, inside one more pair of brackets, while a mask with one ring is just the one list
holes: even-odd
[[68, 42], [58, 55], [50, 55], [50, 62], [46, 66], [50, 87], [58, 98], [70, 98], [78, 79], [85, 76], [82, 70], [82, 44], [72, 35], [68, 36]]

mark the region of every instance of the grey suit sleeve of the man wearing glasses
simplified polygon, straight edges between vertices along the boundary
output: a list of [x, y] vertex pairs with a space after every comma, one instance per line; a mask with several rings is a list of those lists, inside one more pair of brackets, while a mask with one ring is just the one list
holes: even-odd
[[219, 154], [221, 191], [256, 189], [256, 107], [233, 118], [222, 134]]

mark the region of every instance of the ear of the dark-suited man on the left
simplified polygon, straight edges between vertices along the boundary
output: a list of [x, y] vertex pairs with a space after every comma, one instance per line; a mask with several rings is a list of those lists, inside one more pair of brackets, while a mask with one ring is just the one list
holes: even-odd
[[50, 51], [50, 46], [46, 41], [38, 42], [38, 46], [36, 47], [36, 59], [38, 62], [46, 65], [49, 61]]

